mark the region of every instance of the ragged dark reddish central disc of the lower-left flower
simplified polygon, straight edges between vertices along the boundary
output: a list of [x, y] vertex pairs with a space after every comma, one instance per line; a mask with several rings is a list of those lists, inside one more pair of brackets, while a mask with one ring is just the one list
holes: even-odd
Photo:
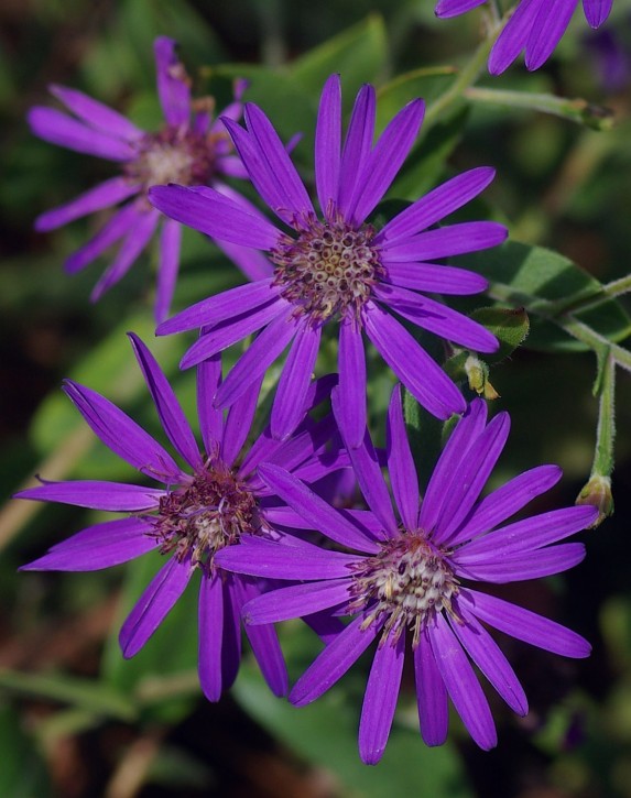
[[254, 496], [220, 461], [208, 460], [192, 482], [160, 500], [152, 536], [162, 554], [210, 572], [215, 554], [260, 528]]

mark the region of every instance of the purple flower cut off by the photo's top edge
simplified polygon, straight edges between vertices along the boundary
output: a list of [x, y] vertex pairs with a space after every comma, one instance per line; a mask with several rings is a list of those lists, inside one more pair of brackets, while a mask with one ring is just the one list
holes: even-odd
[[[439, 0], [438, 17], [457, 17], [482, 6], [486, 0]], [[609, 17], [613, 0], [583, 0], [590, 28]], [[499, 75], [523, 51], [527, 69], [538, 69], [553, 54], [574, 14], [578, 0], [520, 0], [489, 56], [489, 72]]]

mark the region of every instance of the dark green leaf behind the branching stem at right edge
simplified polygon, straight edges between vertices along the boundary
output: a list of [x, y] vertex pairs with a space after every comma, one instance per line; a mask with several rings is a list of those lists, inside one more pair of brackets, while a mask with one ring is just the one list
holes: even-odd
[[[527, 244], [509, 241], [485, 252], [458, 259], [458, 265], [483, 274], [490, 281], [489, 295], [515, 308], [525, 307], [531, 317], [531, 332], [525, 347], [541, 351], [588, 351], [552, 319], [563, 320], [563, 313], [579, 303], [596, 298], [601, 284], [564, 255]], [[631, 319], [616, 299], [598, 307], [573, 310], [574, 316], [599, 336], [617, 342], [631, 335]]]

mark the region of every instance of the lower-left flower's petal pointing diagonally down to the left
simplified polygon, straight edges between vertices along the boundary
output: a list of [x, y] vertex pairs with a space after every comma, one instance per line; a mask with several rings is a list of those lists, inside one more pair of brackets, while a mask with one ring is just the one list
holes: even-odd
[[184, 592], [192, 573], [191, 564], [187, 560], [179, 562], [176, 557], [157, 571], [120, 630], [119, 643], [126, 659], [138, 654], [164, 621]]

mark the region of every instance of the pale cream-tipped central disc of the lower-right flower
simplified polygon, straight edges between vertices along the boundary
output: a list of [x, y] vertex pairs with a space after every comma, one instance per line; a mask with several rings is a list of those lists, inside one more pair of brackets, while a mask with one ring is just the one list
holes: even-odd
[[443, 610], [453, 613], [458, 580], [444, 553], [421, 532], [412, 532], [382, 544], [379, 554], [362, 560], [352, 593], [351, 610], [369, 610], [365, 628], [387, 616], [381, 642], [395, 642], [407, 627], [416, 647], [427, 620]]

